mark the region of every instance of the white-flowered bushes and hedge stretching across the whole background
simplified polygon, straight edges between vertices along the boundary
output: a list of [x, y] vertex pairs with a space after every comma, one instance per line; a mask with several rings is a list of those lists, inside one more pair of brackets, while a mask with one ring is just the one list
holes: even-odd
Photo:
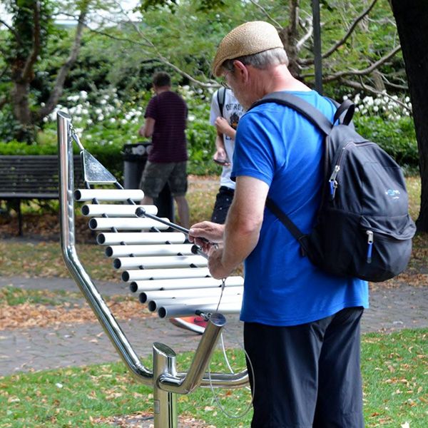
[[[215, 151], [215, 128], [208, 122], [210, 92], [188, 87], [179, 88], [179, 91], [189, 108], [186, 130], [189, 153], [188, 172], [196, 175], [219, 174], [220, 166], [212, 161]], [[143, 106], [147, 104], [151, 94], [144, 93], [140, 96], [138, 103], [136, 101], [123, 103], [114, 92], [113, 95], [111, 93], [109, 95], [108, 91], [98, 91], [93, 94], [92, 101], [86, 100], [86, 96], [83, 98], [71, 96], [69, 101], [66, 101], [83, 146], [120, 180], [123, 175], [123, 145], [139, 141], [137, 132], [143, 121]], [[382, 110], [383, 104], [380, 98], [375, 98], [374, 101], [370, 97], [363, 100], [355, 98], [355, 100], [358, 101], [357, 106], [360, 108], [360, 113], [355, 116], [357, 131], [378, 143], [399, 165], [402, 165], [404, 170], [410, 172], [416, 170], [419, 155], [412, 117], [399, 116], [397, 103], [389, 104], [389, 110], [387, 107]], [[98, 106], [97, 101], [100, 103]], [[402, 110], [401, 107], [400, 109]], [[54, 119], [55, 114], [52, 115], [52, 120]], [[39, 133], [38, 139], [38, 144], [31, 145], [17, 141], [0, 143], [0, 154], [57, 153], [54, 122], [46, 126], [44, 132]], [[77, 148], [75, 149], [77, 151]]]

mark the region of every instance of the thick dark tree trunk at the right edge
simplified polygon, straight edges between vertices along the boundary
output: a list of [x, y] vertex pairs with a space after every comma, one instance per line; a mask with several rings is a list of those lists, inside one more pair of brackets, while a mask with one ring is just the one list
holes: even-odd
[[419, 232], [428, 232], [428, 1], [390, 3], [402, 45], [419, 150], [422, 195], [416, 225]]

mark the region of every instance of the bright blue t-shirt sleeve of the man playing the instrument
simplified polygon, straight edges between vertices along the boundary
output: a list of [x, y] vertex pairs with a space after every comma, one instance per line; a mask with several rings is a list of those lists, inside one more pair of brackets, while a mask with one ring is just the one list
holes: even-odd
[[248, 175], [270, 185], [275, 173], [273, 141], [275, 128], [266, 116], [253, 112], [242, 116], [236, 133], [231, 178]]

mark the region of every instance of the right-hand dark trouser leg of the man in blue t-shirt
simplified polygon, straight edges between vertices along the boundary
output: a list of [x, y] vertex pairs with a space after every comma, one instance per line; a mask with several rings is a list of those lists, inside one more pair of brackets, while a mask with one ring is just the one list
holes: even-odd
[[320, 355], [314, 428], [362, 428], [360, 319], [362, 307], [335, 314]]

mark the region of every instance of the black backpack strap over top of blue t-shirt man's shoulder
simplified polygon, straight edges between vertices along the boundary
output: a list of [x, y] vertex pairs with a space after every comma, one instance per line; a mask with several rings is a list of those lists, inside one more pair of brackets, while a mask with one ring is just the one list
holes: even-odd
[[268, 93], [262, 99], [253, 103], [249, 110], [264, 103], [278, 103], [292, 108], [320, 128], [325, 135], [328, 135], [332, 129], [331, 121], [324, 114], [312, 106], [312, 104], [298, 96], [292, 95], [292, 93], [282, 91]]

